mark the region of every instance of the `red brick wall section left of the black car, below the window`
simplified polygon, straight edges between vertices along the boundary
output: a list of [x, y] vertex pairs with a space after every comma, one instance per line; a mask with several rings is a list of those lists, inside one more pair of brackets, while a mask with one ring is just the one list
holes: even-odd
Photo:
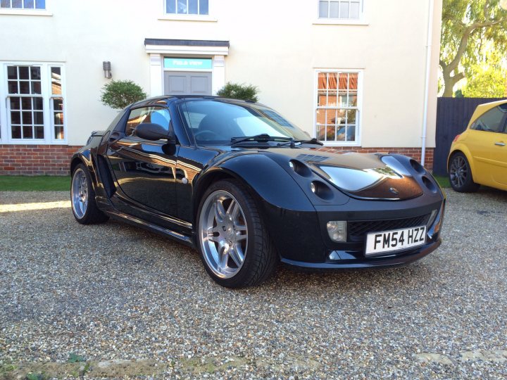
[[80, 146], [0, 145], [0, 175], [68, 175]]

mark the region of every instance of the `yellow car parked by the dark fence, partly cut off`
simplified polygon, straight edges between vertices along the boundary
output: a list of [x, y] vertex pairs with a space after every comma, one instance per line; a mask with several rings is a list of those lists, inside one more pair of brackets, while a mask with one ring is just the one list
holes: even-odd
[[477, 106], [467, 129], [458, 134], [447, 159], [454, 190], [470, 192], [480, 185], [507, 190], [507, 101]]

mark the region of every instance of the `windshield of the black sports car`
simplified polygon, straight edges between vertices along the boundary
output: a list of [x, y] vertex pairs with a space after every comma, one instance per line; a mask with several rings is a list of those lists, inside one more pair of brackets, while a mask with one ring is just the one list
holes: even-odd
[[180, 110], [200, 145], [231, 144], [232, 138], [258, 134], [294, 140], [309, 138], [274, 110], [257, 104], [195, 100], [186, 101]]

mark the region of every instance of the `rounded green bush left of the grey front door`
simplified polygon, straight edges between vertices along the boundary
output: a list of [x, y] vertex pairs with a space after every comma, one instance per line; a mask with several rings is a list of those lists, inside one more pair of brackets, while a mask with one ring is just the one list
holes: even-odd
[[115, 110], [146, 99], [146, 93], [131, 80], [112, 80], [102, 87], [101, 102]]

